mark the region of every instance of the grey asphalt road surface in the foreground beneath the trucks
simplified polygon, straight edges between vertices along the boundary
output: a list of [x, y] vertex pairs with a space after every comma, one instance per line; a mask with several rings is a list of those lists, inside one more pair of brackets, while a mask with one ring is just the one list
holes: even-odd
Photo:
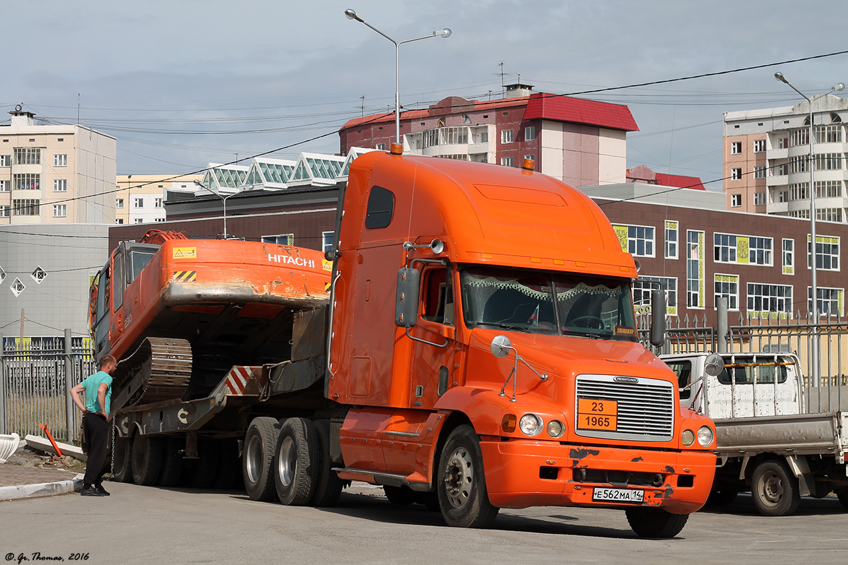
[[697, 512], [673, 540], [643, 540], [623, 512], [584, 508], [502, 510], [494, 529], [448, 528], [437, 512], [393, 506], [382, 490], [359, 483], [338, 507], [323, 509], [254, 502], [236, 491], [106, 487], [112, 496], [0, 503], [0, 565], [20, 557], [148, 565], [848, 561], [848, 516], [835, 499], [804, 499], [795, 516], [764, 518], [739, 496], [721, 511]]

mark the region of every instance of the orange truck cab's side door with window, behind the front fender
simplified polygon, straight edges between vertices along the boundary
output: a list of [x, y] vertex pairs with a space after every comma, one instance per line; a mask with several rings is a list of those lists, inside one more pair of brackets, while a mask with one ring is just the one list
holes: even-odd
[[[454, 288], [452, 269], [426, 265], [421, 272], [418, 324], [410, 329], [412, 348], [410, 398], [414, 408], [432, 409], [455, 377]], [[427, 343], [425, 343], [425, 341]]]

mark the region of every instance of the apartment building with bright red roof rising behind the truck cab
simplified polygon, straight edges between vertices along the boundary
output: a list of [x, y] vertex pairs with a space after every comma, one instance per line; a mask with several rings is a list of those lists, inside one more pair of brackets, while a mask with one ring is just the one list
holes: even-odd
[[[627, 106], [506, 87], [506, 97], [481, 102], [447, 97], [400, 115], [404, 153], [536, 170], [572, 186], [625, 182], [627, 133], [638, 131]], [[394, 114], [351, 119], [339, 130], [341, 150], [388, 149]]]

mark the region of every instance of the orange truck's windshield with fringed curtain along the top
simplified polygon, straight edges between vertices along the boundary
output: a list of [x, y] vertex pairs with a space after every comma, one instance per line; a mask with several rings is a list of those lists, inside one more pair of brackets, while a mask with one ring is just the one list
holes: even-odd
[[469, 328], [637, 341], [628, 280], [476, 265], [460, 280]]

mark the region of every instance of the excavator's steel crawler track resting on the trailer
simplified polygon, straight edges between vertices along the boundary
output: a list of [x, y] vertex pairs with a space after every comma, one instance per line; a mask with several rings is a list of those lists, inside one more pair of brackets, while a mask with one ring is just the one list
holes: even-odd
[[192, 377], [192, 346], [186, 340], [148, 337], [112, 375], [112, 411], [180, 398]]

